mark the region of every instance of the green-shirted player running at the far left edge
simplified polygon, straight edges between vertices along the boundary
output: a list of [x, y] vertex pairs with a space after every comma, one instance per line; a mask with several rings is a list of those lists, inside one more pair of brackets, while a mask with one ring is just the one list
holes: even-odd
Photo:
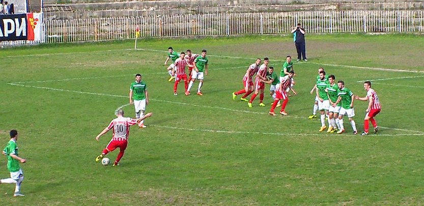
[[10, 140], [6, 145], [6, 148], [3, 150], [3, 154], [7, 156], [7, 169], [10, 172], [10, 178], [0, 180], [0, 184], [16, 184], [13, 196], [20, 197], [24, 195], [19, 192], [20, 185], [23, 181], [23, 172], [19, 163], [25, 163], [26, 160], [18, 155], [18, 146], [16, 145], [16, 141], [18, 140], [18, 131], [11, 130], [9, 134]]

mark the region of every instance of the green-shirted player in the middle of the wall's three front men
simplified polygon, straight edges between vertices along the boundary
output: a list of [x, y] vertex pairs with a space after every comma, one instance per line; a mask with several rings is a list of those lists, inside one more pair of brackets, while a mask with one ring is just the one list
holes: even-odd
[[328, 108], [328, 121], [330, 125], [328, 127], [327, 132], [333, 133], [338, 131], [338, 128], [340, 128], [340, 126], [338, 126], [338, 111], [340, 111], [341, 103], [339, 102], [336, 106], [333, 106], [334, 102], [337, 101], [338, 97], [338, 87], [335, 83], [335, 76], [332, 74], [328, 76], [328, 82], [329, 84], [327, 84], [327, 87], [325, 89], [325, 91], [327, 92], [328, 101], [330, 102], [330, 106]]

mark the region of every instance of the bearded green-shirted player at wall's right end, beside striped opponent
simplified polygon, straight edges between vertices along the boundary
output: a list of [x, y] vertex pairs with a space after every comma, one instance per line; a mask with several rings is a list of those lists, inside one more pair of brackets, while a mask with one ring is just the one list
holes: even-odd
[[345, 127], [343, 126], [343, 116], [346, 114], [349, 117], [350, 124], [352, 125], [353, 134], [358, 134], [355, 121], [352, 119], [355, 116], [355, 110], [353, 109], [353, 93], [345, 87], [345, 82], [342, 80], [337, 81], [337, 87], [338, 98], [337, 101], [334, 102], [333, 106], [337, 105], [339, 102], [342, 103], [340, 112], [338, 112], [338, 124], [340, 125], [340, 130], [337, 132], [337, 134], [342, 134], [345, 132]]

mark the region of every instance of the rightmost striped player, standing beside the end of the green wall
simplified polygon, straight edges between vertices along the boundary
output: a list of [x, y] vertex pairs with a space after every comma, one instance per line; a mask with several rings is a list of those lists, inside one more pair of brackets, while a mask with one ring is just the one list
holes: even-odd
[[374, 133], [378, 132], [377, 122], [374, 120], [374, 117], [378, 113], [380, 113], [381, 104], [380, 104], [380, 100], [378, 100], [376, 91], [371, 89], [371, 81], [365, 81], [363, 83], [363, 89], [366, 91], [366, 96], [365, 97], [355, 96], [355, 99], [361, 100], [361, 101], [367, 101], [367, 100], [369, 101], [368, 107], [365, 110], [366, 114], [363, 120], [363, 133], [361, 134], [361, 135], [367, 135], [368, 128], [369, 128], [368, 121], [371, 121], [371, 124], [374, 127]]

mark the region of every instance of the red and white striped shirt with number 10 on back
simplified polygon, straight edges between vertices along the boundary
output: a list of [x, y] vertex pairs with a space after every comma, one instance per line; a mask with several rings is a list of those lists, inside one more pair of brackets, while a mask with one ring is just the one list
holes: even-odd
[[124, 141], [128, 140], [130, 126], [135, 124], [136, 120], [121, 116], [112, 120], [106, 128], [113, 129], [112, 140]]

